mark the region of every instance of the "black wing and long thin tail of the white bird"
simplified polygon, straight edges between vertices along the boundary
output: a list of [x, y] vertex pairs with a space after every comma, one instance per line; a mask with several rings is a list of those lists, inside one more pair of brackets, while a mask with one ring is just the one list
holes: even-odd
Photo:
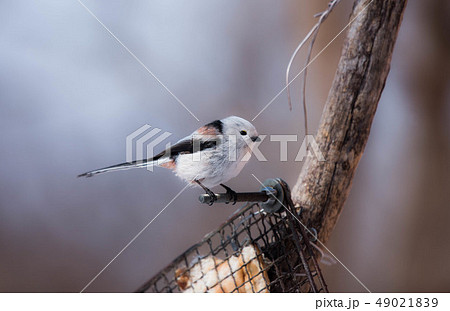
[[125, 162], [121, 164], [104, 167], [101, 169], [80, 174], [78, 175], [78, 177], [92, 177], [97, 174], [108, 173], [112, 171], [128, 170], [132, 168], [146, 167], [152, 165], [161, 165], [163, 163], [176, 159], [176, 157], [180, 154], [188, 154], [196, 151], [203, 151], [208, 148], [213, 148], [219, 143], [220, 141], [218, 139], [212, 139], [210, 136], [203, 137], [202, 135], [195, 135], [195, 136], [190, 135], [181, 139], [175, 145], [158, 153], [152, 158], [132, 162]]

